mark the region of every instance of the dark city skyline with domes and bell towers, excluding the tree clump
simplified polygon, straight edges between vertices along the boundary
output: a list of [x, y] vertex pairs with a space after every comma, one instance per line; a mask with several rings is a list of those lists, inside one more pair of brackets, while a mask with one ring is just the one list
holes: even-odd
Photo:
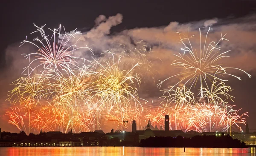
[[132, 122], [131, 132], [121, 130], [111, 130], [111, 133], [104, 133], [102, 130], [95, 130], [94, 132], [81, 132], [61, 133], [60, 131], [40, 132], [40, 134], [29, 134], [27, 136], [23, 133], [10, 133], [1, 132], [2, 139], [0, 140], [0, 147], [73, 147], [73, 146], [138, 146], [142, 139], [149, 137], [177, 137], [183, 136], [191, 138], [193, 136], [204, 135], [231, 135], [233, 139], [238, 139], [245, 142], [247, 145], [256, 145], [256, 132], [249, 133], [249, 125], [246, 124], [245, 132], [202, 132], [199, 133], [195, 130], [187, 131], [182, 130], [169, 130], [170, 122], [169, 115], [164, 117], [164, 129], [160, 126], [153, 127], [151, 121], [143, 130], [137, 130], [136, 121]]

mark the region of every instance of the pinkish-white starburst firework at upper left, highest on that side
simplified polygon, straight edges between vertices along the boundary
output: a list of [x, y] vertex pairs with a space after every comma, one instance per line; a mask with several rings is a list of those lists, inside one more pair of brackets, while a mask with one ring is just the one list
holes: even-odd
[[[36, 37], [33, 39], [33, 42], [28, 41], [26, 37], [26, 40], [21, 42], [21, 45], [24, 43], [30, 43], [38, 48], [38, 52], [24, 54], [25, 57], [29, 59], [29, 65], [23, 71], [24, 74], [27, 72], [27, 74], [25, 74], [27, 76], [30, 76], [30, 74], [40, 66], [42, 66], [42, 69], [39, 69], [41, 73], [45, 73], [49, 68], [59, 72], [62, 68], [70, 68], [71, 65], [76, 66], [78, 65], [76, 60], [81, 58], [75, 57], [74, 52], [80, 48], [87, 48], [88, 50], [91, 50], [87, 46], [79, 48], [77, 48], [76, 45], [68, 46], [71, 39], [74, 39], [76, 35], [81, 34], [81, 32], [76, 29], [67, 33], [63, 27], [64, 34], [61, 34], [61, 25], [59, 28], [53, 30], [48, 28], [53, 32], [52, 36], [49, 38], [43, 29], [45, 25], [38, 27], [34, 24], [34, 26], [37, 30], [31, 34], [39, 32], [41, 37]], [[52, 37], [53, 41], [51, 41]], [[39, 45], [36, 44], [35, 41], [38, 42]]]

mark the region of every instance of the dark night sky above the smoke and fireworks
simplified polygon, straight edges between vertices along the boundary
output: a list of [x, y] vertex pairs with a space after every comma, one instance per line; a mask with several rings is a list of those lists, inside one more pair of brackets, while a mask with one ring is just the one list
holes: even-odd
[[[218, 18], [222, 19], [222, 23], [225, 23], [226, 19], [227, 21], [234, 19], [239, 23], [243, 17], [256, 13], [256, 0], [92, 0], [91, 2], [88, 0], [4, 0], [1, 2], [1, 71], [7, 69], [6, 48], [8, 45], [20, 43], [26, 35], [34, 31], [33, 23], [38, 26], [47, 24], [49, 28], [55, 28], [61, 24], [67, 30], [78, 28], [81, 31], [89, 31], [99, 15], [109, 17], [120, 13], [123, 16], [122, 23], [111, 28], [111, 33], [115, 34], [133, 28], [168, 26], [172, 21], [193, 23], [193, 21]], [[255, 32], [255, 29], [253, 31]], [[255, 71], [252, 75], [256, 75]], [[239, 82], [239, 85], [233, 87], [236, 90], [233, 96], [244, 111], [249, 111], [252, 115], [256, 113], [253, 111], [256, 107], [252, 107], [256, 79], [245, 76], [242, 78], [244, 79], [242, 82], [230, 80], [231, 84]], [[2, 114], [0, 111], [0, 118]], [[256, 117], [256, 115], [252, 116]], [[248, 121], [253, 125], [252, 129], [255, 129], [253, 131], [256, 131], [253, 119], [250, 118]]]

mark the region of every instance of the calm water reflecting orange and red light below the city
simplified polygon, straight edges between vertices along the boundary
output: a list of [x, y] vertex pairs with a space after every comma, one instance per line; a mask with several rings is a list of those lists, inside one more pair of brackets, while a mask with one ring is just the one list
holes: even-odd
[[253, 148], [0, 147], [0, 156], [254, 156]]

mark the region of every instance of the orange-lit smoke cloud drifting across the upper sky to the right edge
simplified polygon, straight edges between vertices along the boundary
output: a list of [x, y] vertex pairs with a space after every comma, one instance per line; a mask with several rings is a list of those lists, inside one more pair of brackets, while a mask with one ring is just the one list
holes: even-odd
[[[128, 51], [134, 48], [141, 48], [142, 44], [140, 41], [143, 40], [143, 44], [147, 45], [148, 48], [151, 48], [152, 51], [155, 52], [154, 54], [149, 54], [152, 55], [150, 58], [154, 61], [149, 61], [154, 62], [155, 66], [158, 66], [160, 63], [161, 69], [157, 70], [162, 71], [162, 68], [164, 68], [163, 73], [160, 73], [160, 75], [168, 76], [169, 74], [164, 71], [170, 71], [169, 65], [174, 59], [173, 54], [178, 54], [181, 52], [180, 48], [183, 48], [183, 45], [179, 41], [179, 34], [175, 32], [184, 35], [189, 34], [189, 36], [195, 35], [191, 41], [193, 48], [198, 50], [200, 48], [199, 28], [201, 28], [203, 40], [205, 39], [209, 27], [211, 27], [212, 31], [210, 31], [207, 36], [208, 44], [211, 41], [215, 43], [218, 42], [221, 35], [227, 34], [225, 38], [227, 38], [229, 42], [221, 42], [221, 51], [231, 50], [228, 53], [231, 58], [227, 59], [227, 62], [224, 62], [226, 66], [232, 65], [245, 71], [250, 71], [256, 67], [255, 62], [252, 61], [255, 58], [253, 51], [256, 49], [256, 32], [252, 31], [256, 26], [255, 20], [252, 20], [255, 19], [255, 17], [256, 15], [250, 15], [243, 17], [243, 20], [214, 18], [190, 23], [170, 22], [168, 26], [134, 28], [111, 34], [111, 28], [122, 23], [122, 14], [116, 14], [108, 18], [104, 15], [100, 15], [95, 20], [95, 27], [90, 31], [83, 32], [81, 36], [79, 36], [81, 39], [76, 45], [89, 46], [96, 55], [94, 57], [99, 57], [97, 54], [101, 54], [103, 51], [107, 50], [113, 50], [115, 53], [122, 52], [124, 46], [120, 45], [125, 45], [125, 49]], [[88, 54], [88, 52], [83, 51], [82, 54], [79, 53], [77, 55], [87, 58]], [[241, 58], [247, 63], [234, 65], [233, 62], [239, 61]]]

